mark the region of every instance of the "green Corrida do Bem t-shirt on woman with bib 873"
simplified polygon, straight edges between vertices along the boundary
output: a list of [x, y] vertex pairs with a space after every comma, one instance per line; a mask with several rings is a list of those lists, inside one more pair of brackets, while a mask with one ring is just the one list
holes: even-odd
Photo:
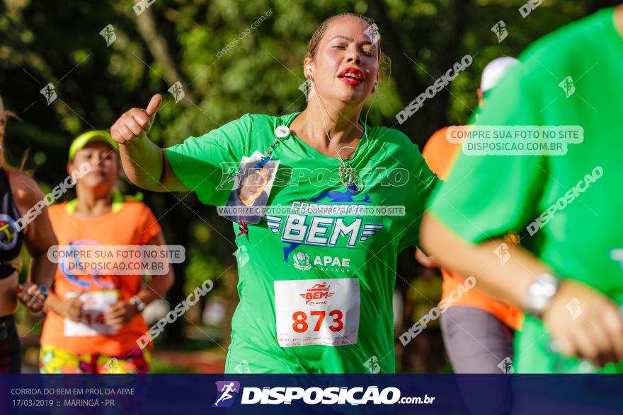
[[[263, 153], [275, 129], [297, 115], [247, 114], [167, 148], [166, 156], [204, 204], [219, 206], [241, 157]], [[240, 303], [228, 372], [394, 372], [396, 257], [418, 242], [436, 177], [400, 131], [367, 126], [367, 136], [351, 158], [365, 181], [359, 194], [339, 182], [337, 158], [294, 134], [276, 146], [268, 205], [285, 209], [236, 237]]]

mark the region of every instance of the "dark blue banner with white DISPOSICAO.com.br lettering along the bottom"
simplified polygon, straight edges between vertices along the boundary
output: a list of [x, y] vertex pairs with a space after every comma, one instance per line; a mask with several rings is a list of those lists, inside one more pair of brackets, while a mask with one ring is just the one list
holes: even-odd
[[620, 414], [619, 375], [0, 375], [1, 414]]

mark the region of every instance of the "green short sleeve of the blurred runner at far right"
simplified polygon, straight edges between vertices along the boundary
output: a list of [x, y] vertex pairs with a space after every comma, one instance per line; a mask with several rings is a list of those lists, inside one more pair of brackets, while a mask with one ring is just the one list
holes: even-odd
[[[543, 125], [539, 111], [547, 103], [531, 81], [534, 67], [525, 66], [511, 69], [493, 90], [477, 126]], [[546, 171], [544, 156], [461, 153], [447, 180], [435, 189], [430, 212], [469, 242], [520, 230], [537, 216]]]

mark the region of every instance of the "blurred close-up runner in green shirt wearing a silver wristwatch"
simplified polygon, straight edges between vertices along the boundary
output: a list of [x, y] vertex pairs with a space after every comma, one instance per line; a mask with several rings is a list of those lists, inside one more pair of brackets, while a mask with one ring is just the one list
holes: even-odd
[[[570, 126], [583, 141], [564, 154], [463, 153], [425, 214], [428, 254], [527, 312], [515, 372], [623, 372], [622, 35], [623, 6], [606, 8], [523, 52], [476, 127]], [[513, 230], [521, 245], [509, 247]]]

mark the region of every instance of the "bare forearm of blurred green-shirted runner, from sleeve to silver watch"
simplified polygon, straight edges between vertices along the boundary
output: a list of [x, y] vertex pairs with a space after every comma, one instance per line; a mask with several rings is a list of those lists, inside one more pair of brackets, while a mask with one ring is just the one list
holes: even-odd
[[548, 269], [532, 252], [520, 245], [509, 246], [509, 257], [498, 256], [502, 239], [472, 245], [459, 238], [434, 216], [426, 214], [421, 225], [421, 243], [443, 267], [463, 276], [474, 276], [476, 288], [505, 303], [522, 307], [528, 286]]

